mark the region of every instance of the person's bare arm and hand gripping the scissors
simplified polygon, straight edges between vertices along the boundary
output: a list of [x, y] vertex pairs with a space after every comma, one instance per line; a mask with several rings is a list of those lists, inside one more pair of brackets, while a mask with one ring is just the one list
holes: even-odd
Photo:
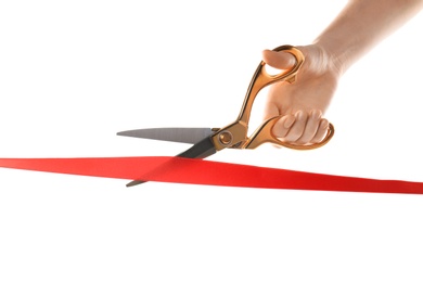
[[[309, 46], [297, 47], [306, 62], [293, 85], [270, 88], [265, 118], [281, 115], [273, 133], [286, 142], [308, 144], [325, 134], [328, 108], [342, 75], [377, 42], [423, 9], [423, 0], [350, 0]], [[264, 61], [286, 69], [293, 57], [265, 50]]]

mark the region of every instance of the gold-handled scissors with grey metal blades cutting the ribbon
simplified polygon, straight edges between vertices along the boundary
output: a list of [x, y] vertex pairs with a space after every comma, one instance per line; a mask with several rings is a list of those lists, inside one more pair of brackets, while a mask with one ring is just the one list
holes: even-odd
[[[294, 150], [311, 150], [323, 146], [332, 139], [335, 132], [332, 124], [329, 124], [328, 131], [323, 140], [319, 143], [308, 145], [286, 143], [272, 133], [272, 128], [281, 116], [274, 116], [265, 120], [251, 137], [247, 136], [253, 103], [259, 91], [266, 86], [274, 82], [294, 82], [299, 68], [304, 63], [303, 53], [292, 46], [281, 46], [273, 49], [273, 51], [291, 53], [295, 57], [294, 66], [286, 72], [270, 75], [266, 72], [266, 63], [261, 61], [249, 82], [241, 112], [233, 123], [221, 128], [146, 128], [121, 131], [117, 134], [191, 143], [193, 145], [190, 149], [177, 155], [179, 157], [187, 158], [205, 158], [227, 148], [256, 149], [264, 143], [273, 143]], [[127, 187], [132, 187], [143, 182], [145, 181], [133, 180], [129, 182]]]

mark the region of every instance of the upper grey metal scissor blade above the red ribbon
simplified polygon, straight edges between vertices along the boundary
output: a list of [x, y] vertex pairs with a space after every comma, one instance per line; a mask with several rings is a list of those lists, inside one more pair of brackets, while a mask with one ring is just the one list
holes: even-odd
[[145, 128], [117, 132], [118, 136], [195, 144], [213, 133], [211, 128]]

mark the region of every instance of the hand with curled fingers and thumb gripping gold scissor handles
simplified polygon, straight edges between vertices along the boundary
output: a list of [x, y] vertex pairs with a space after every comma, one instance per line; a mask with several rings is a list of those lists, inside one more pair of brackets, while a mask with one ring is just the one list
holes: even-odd
[[[273, 134], [284, 142], [305, 145], [320, 142], [326, 134], [329, 121], [322, 115], [336, 90], [341, 70], [322, 48], [311, 44], [297, 49], [305, 62], [296, 81], [270, 87], [265, 119], [281, 115]], [[289, 69], [295, 63], [295, 57], [283, 51], [265, 50], [262, 60], [278, 69]]]

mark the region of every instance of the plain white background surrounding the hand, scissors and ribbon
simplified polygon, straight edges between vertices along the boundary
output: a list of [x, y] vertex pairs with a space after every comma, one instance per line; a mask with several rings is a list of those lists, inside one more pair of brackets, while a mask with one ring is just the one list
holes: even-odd
[[[0, 156], [175, 155], [115, 133], [227, 125], [261, 50], [311, 42], [345, 2], [1, 1]], [[422, 25], [345, 75], [326, 146], [209, 159], [423, 181]], [[420, 195], [126, 182], [0, 169], [0, 281], [423, 280]]]

